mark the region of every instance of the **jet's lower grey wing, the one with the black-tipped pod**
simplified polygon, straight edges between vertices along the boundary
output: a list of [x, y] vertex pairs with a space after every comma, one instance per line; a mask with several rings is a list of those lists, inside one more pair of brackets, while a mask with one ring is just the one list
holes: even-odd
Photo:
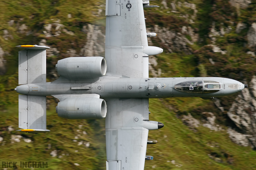
[[106, 102], [107, 170], [143, 170], [147, 149], [148, 98], [117, 98]]

